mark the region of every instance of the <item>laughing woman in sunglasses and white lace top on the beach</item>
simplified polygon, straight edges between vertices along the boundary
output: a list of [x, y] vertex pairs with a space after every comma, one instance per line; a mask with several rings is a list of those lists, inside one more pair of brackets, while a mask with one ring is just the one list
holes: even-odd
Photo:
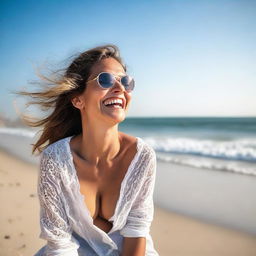
[[[42, 151], [38, 178], [40, 238], [35, 255], [158, 255], [150, 225], [156, 156], [141, 138], [118, 131], [134, 80], [118, 48], [81, 53], [53, 86], [20, 92], [53, 108], [33, 153]], [[42, 146], [46, 144], [46, 146]]]

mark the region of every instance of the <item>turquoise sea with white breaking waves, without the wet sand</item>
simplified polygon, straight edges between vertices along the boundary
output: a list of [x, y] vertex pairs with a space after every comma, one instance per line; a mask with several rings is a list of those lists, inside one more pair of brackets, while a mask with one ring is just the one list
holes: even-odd
[[[256, 176], [256, 118], [126, 118], [119, 130], [144, 139], [159, 161]], [[0, 128], [1, 134], [10, 135], [0, 139], [8, 147], [35, 131]]]

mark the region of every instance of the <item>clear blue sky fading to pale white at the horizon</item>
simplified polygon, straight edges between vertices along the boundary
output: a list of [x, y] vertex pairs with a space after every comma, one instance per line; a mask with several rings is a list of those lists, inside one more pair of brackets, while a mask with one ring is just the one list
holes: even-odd
[[36, 67], [111, 43], [136, 83], [128, 117], [256, 116], [255, 13], [246, 0], [1, 0], [0, 113], [16, 116], [26, 101], [11, 91], [32, 89]]

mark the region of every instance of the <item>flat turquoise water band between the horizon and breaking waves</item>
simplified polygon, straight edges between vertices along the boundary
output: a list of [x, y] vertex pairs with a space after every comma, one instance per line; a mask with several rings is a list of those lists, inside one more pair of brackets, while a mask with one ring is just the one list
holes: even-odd
[[127, 118], [121, 130], [148, 136], [186, 136], [213, 140], [256, 138], [256, 117]]

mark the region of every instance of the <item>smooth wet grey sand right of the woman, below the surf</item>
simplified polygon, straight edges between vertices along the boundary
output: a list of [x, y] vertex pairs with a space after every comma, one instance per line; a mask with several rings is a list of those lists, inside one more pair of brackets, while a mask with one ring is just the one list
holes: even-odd
[[159, 161], [154, 199], [169, 212], [256, 236], [255, 184], [248, 175]]

